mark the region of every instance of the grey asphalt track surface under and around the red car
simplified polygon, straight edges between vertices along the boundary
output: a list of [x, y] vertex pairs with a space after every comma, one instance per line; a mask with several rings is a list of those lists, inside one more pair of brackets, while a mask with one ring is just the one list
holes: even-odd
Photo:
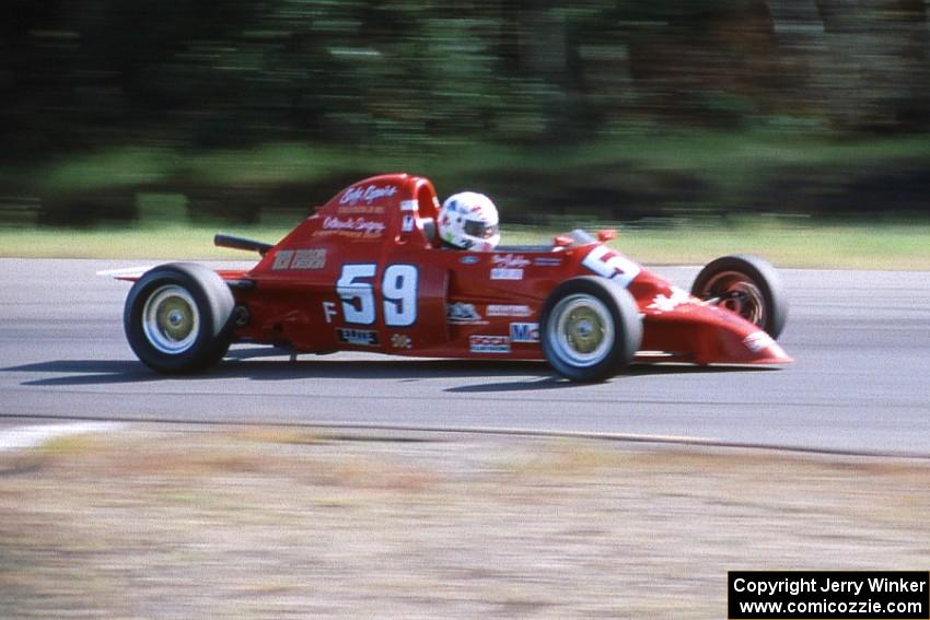
[[[784, 270], [777, 370], [643, 365], [597, 385], [545, 363], [302, 355], [236, 346], [212, 372], [165, 378], [123, 335], [147, 261], [0, 260], [0, 425], [113, 419], [496, 429], [930, 456], [930, 272]], [[697, 268], [656, 268], [689, 286]], [[274, 353], [274, 354], [269, 354]]]

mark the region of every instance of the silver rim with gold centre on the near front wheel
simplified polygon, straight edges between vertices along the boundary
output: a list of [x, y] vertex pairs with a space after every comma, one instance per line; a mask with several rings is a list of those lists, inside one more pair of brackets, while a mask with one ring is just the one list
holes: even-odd
[[553, 308], [548, 341], [559, 359], [576, 367], [593, 366], [614, 348], [614, 318], [598, 299], [569, 295]]

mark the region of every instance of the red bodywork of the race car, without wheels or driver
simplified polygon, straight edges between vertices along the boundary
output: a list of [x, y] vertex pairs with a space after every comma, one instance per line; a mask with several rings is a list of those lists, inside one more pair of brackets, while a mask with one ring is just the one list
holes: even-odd
[[[235, 340], [300, 352], [543, 359], [539, 312], [577, 276], [627, 288], [643, 314], [638, 360], [778, 364], [774, 339], [583, 233], [551, 247], [440, 247], [432, 184], [384, 175], [340, 191], [248, 271], [220, 271], [246, 308]], [[607, 235], [604, 235], [607, 237]]]

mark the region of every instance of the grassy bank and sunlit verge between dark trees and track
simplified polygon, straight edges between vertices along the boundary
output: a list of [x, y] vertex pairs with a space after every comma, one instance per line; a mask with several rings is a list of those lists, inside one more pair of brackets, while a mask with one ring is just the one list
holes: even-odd
[[[923, 198], [929, 161], [926, 136], [852, 139], [778, 127], [642, 128], [548, 149], [467, 140], [407, 151], [269, 143], [189, 152], [139, 144], [0, 168], [0, 220], [21, 224], [0, 227], [0, 256], [243, 258], [213, 248], [212, 234], [226, 229], [275, 242], [298, 223], [305, 201], [325, 201], [340, 184], [363, 176], [409, 171], [432, 178], [443, 196], [469, 187], [490, 192], [505, 222], [508, 217], [544, 222], [562, 213], [563, 230], [607, 225], [585, 217], [585, 209], [605, 217], [662, 218], [662, 225], [619, 226], [615, 246], [647, 264], [704, 264], [747, 251], [782, 267], [930, 269]], [[625, 210], [613, 210], [616, 204]], [[833, 221], [861, 213], [863, 220], [825, 224], [797, 215], [720, 217], [745, 212], [819, 213]], [[72, 222], [74, 213], [86, 222], [141, 224], [31, 225]], [[918, 221], [864, 220], [882, 213], [912, 213]], [[202, 224], [246, 214], [261, 224]], [[516, 244], [557, 232], [504, 229], [504, 243]]]

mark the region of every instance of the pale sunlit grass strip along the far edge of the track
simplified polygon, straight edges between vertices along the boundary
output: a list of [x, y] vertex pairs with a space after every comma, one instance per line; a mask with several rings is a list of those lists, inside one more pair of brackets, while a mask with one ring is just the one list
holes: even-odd
[[[213, 233], [239, 234], [275, 243], [293, 224], [241, 226], [148, 225], [97, 230], [0, 229], [0, 257], [98, 259], [251, 259], [217, 248]], [[566, 230], [578, 224], [567, 224]], [[597, 222], [581, 222], [589, 230]], [[601, 224], [603, 225], [603, 224]], [[930, 269], [930, 224], [809, 224], [749, 218], [701, 220], [652, 227], [619, 226], [613, 245], [650, 265], [701, 265], [718, 256], [757, 254], [779, 267], [846, 269]], [[511, 227], [503, 243], [539, 243], [558, 232]]]

